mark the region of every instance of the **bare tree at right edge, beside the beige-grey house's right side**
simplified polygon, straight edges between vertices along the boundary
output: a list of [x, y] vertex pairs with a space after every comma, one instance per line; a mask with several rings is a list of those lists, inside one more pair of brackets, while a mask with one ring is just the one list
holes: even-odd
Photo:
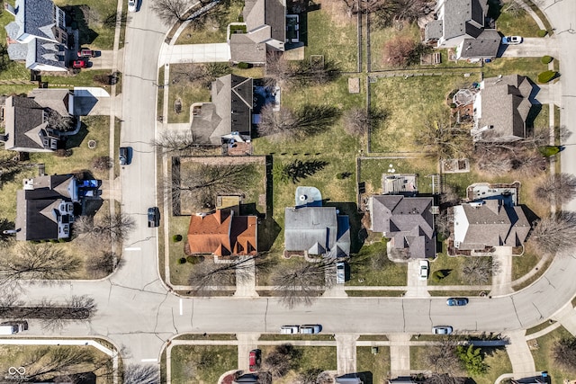
[[530, 241], [541, 251], [556, 254], [574, 246], [576, 215], [559, 212], [536, 222]]

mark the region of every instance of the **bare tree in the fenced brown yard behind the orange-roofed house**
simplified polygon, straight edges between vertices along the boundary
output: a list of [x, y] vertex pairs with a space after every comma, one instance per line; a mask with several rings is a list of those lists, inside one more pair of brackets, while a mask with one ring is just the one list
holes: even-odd
[[240, 193], [255, 174], [254, 165], [205, 165], [195, 163], [183, 170], [173, 167], [172, 174], [163, 180], [167, 199], [187, 199], [195, 208], [211, 208], [219, 194]]

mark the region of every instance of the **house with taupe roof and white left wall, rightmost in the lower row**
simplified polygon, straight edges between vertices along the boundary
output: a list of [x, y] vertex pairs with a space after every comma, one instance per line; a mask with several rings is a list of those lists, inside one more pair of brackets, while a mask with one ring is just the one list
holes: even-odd
[[530, 231], [524, 210], [500, 199], [472, 201], [453, 208], [454, 246], [483, 251], [492, 246], [522, 246]]

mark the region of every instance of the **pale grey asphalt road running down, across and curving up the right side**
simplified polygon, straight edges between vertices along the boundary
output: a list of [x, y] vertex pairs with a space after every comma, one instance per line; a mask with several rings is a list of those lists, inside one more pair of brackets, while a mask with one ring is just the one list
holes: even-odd
[[[576, 4], [549, 0], [546, 12], [557, 31], [572, 28]], [[287, 309], [272, 298], [180, 299], [158, 278], [157, 229], [147, 227], [146, 210], [156, 204], [156, 160], [149, 146], [155, 135], [157, 52], [166, 28], [143, 2], [126, 31], [122, 91], [121, 144], [134, 148], [132, 164], [121, 170], [122, 210], [137, 219], [138, 228], [123, 249], [125, 263], [104, 281], [67, 281], [31, 285], [27, 298], [59, 300], [86, 294], [97, 303], [90, 324], [71, 324], [67, 336], [103, 335], [126, 346], [128, 362], [157, 360], [162, 345], [185, 332], [277, 333], [285, 324], [322, 324], [325, 333], [426, 334], [432, 326], [450, 325], [460, 332], [505, 332], [542, 323], [576, 292], [576, 258], [559, 256], [540, 280], [525, 290], [499, 298], [472, 298], [464, 308], [450, 308], [441, 298], [320, 298], [311, 307]], [[576, 22], [575, 22], [576, 24]], [[573, 129], [576, 85], [569, 63], [576, 62], [576, 36], [555, 38], [560, 47], [563, 84], [562, 123]], [[566, 72], [563, 72], [564, 69]], [[576, 135], [565, 143], [563, 171], [576, 173]], [[567, 204], [573, 209], [576, 202]], [[40, 333], [31, 323], [31, 335]], [[49, 335], [45, 332], [44, 335]]]

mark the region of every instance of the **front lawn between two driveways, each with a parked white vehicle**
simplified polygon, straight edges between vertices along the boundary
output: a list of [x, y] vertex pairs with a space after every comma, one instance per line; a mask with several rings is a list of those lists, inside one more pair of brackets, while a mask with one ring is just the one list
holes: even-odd
[[402, 286], [406, 285], [408, 266], [394, 263], [386, 255], [386, 242], [363, 246], [350, 262], [347, 285]]

